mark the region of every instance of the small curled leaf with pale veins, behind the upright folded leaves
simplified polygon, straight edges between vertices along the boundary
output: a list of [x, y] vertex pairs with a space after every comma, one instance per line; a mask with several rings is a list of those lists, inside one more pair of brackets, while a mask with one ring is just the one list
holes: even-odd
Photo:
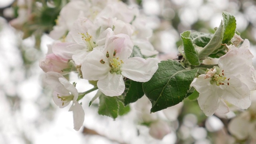
[[192, 32], [190, 38], [192, 42], [200, 47], [205, 47], [211, 40], [213, 34], [204, 32]]

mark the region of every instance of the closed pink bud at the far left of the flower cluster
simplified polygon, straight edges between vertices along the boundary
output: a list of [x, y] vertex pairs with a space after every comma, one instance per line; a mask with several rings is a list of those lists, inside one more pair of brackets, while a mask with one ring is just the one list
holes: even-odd
[[63, 69], [68, 68], [68, 60], [60, 58], [55, 54], [48, 54], [44, 60], [40, 61], [39, 66], [44, 72], [61, 73]]

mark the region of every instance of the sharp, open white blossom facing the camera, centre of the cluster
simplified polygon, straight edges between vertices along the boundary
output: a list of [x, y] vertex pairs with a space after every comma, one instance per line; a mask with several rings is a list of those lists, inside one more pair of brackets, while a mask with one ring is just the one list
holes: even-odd
[[119, 96], [124, 92], [124, 76], [147, 82], [158, 69], [158, 60], [129, 58], [132, 48], [133, 44], [126, 34], [107, 38], [104, 50], [94, 50], [84, 58], [81, 67], [83, 78], [98, 80], [99, 90], [107, 96]]

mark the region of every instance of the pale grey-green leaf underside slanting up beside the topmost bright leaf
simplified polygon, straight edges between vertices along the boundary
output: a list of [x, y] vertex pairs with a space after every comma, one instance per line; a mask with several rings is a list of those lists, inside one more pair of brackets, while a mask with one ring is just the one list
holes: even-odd
[[209, 56], [214, 50], [218, 49], [221, 45], [222, 38], [223, 38], [223, 24], [222, 21], [220, 22], [220, 26], [212, 36], [210, 42], [199, 52], [199, 59], [205, 58]]

